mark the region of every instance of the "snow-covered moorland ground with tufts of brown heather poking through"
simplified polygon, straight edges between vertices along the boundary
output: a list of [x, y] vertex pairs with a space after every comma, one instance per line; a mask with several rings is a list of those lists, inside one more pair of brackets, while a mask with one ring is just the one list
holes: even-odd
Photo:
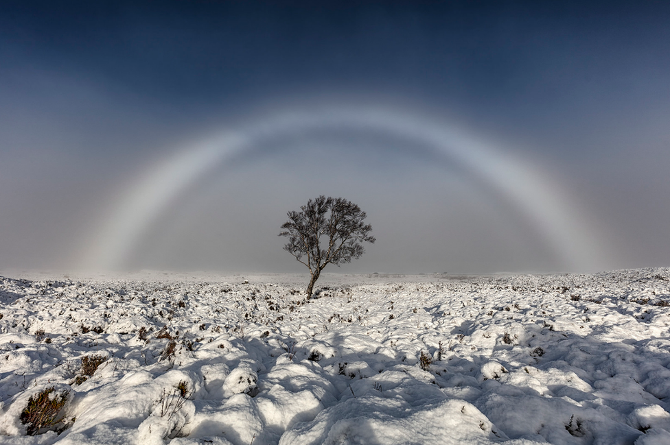
[[306, 284], [3, 273], [0, 443], [670, 444], [670, 269]]

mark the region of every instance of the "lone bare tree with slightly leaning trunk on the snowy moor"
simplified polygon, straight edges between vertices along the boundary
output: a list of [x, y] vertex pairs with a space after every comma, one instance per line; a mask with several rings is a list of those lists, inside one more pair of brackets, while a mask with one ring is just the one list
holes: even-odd
[[368, 234], [372, 226], [363, 224], [365, 212], [344, 198], [321, 195], [300, 209], [288, 212], [288, 221], [281, 226], [284, 232], [279, 236], [288, 237], [284, 250], [310, 269], [307, 295], [311, 297], [325, 265], [339, 266], [360, 258], [365, 252], [362, 241], [374, 243], [375, 237]]

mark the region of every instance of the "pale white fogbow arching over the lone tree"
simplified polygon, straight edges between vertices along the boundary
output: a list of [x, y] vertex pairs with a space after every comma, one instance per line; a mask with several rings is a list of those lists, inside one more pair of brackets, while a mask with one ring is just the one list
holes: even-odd
[[224, 132], [189, 146], [159, 163], [129, 189], [106, 219], [95, 243], [91, 243], [93, 248], [86, 254], [84, 267], [123, 267], [134, 246], [172, 200], [233, 156], [273, 139], [323, 129], [371, 130], [434, 147], [505, 196], [564, 267], [584, 270], [602, 264], [601, 248], [592, 232], [579, 221], [559, 187], [538, 167], [424, 116], [388, 108], [339, 107], [279, 112], [242, 130]]

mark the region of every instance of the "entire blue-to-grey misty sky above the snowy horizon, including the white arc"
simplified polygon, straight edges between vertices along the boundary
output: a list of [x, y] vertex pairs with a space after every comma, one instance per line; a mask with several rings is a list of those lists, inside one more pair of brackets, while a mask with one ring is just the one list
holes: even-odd
[[0, 269], [306, 272], [277, 234], [319, 195], [377, 238], [330, 272], [669, 266], [667, 23], [662, 1], [3, 1]]

